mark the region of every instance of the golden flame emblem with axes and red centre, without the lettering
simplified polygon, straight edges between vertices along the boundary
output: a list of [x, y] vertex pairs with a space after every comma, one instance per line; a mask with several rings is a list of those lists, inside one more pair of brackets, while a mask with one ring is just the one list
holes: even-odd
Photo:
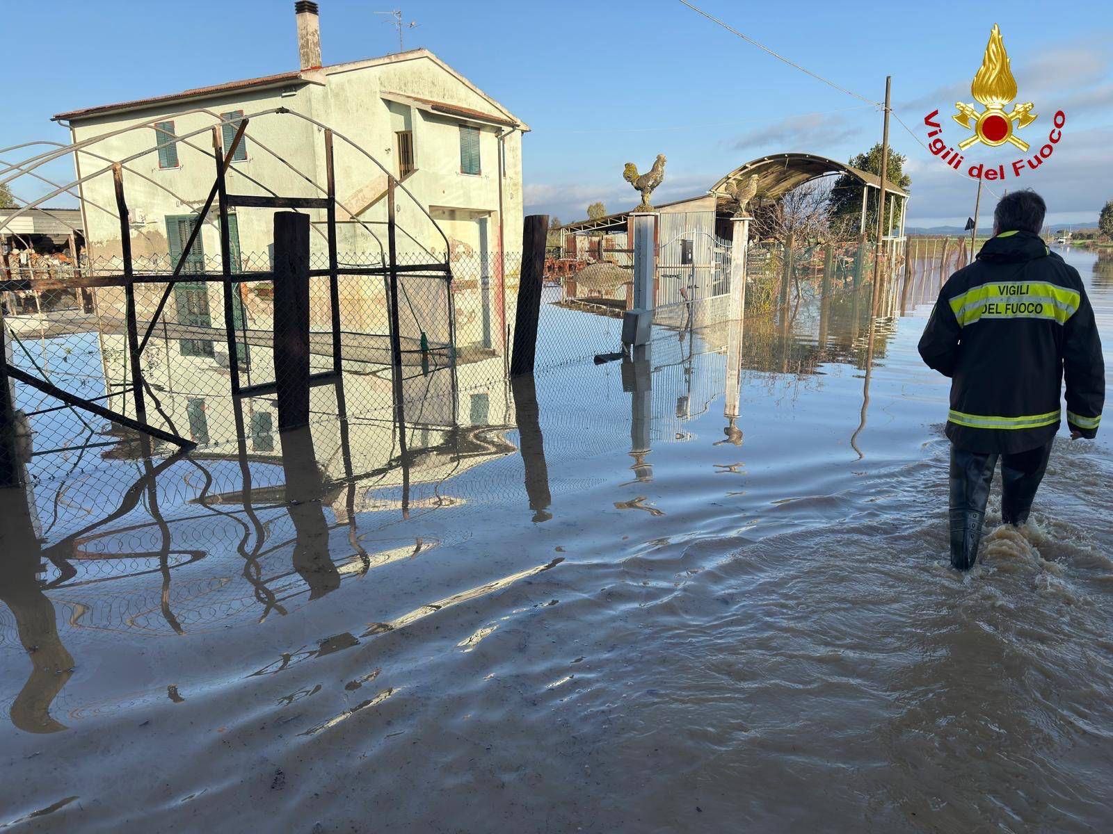
[[964, 128], [974, 130], [974, 136], [958, 142], [959, 148], [966, 150], [974, 142], [984, 142], [994, 148], [1011, 142], [1021, 150], [1028, 149], [1028, 143], [1017, 138], [1014, 130], [1027, 127], [1036, 120], [1036, 115], [1032, 112], [1034, 105], [1025, 101], [1023, 105], [1013, 105], [1013, 109], [1005, 112], [1005, 105], [1016, 98], [1016, 79], [1013, 78], [1005, 41], [996, 23], [989, 32], [989, 42], [986, 43], [982, 66], [971, 85], [971, 95], [975, 101], [985, 107], [985, 110], [978, 112], [973, 105], [955, 102], [958, 112], [951, 118]]

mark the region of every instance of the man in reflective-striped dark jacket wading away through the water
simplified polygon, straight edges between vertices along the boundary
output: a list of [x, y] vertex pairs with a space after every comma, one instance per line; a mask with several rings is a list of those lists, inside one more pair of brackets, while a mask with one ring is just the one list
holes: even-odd
[[989, 484], [1002, 457], [1001, 515], [1024, 524], [1060, 425], [1066, 378], [1071, 437], [1093, 438], [1105, 368], [1094, 311], [1074, 267], [1040, 239], [1046, 206], [1002, 198], [994, 237], [943, 286], [919, 355], [952, 378], [951, 564], [974, 566]]

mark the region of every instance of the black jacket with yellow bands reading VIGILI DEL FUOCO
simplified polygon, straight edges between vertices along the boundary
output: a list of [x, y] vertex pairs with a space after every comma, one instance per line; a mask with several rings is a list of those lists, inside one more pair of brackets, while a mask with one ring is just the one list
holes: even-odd
[[1105, 368], [1094, 311], [1074, 267], [1040, 236], [1003, 231], [943, 285], [919, 355], [952, 378], [947, 437], [961, 449], [1016, 453], [1060, 424], [1094, 437]]

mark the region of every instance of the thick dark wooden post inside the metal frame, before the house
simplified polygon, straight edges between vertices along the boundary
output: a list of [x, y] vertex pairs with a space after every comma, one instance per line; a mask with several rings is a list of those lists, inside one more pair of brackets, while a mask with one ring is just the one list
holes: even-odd
[[274, 217], [275, 388], [284, 430], [309, 425], [309, 216]]

